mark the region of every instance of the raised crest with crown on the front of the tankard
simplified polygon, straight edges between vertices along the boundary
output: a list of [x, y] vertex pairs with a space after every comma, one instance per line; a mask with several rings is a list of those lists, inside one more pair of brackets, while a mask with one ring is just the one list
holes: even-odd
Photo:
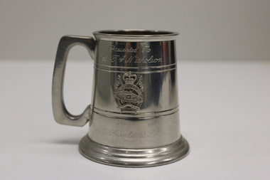
[[140, 109], [144, 102], [144, 84], [141, 81], [141, 75], [124, 73], [118, 75], [117, 83], [115, 84], [116, 91], [114, 92], [115, 100], [117, 101], [118, 109], [121, 112], [136, 112]]

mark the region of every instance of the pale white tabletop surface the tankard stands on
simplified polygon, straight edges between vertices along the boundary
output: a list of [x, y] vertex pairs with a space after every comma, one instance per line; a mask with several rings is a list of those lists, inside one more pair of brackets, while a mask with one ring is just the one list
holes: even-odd
[[[130, 169], [85, 159], [78, 144], [88, 127], [53, 120], [53, 61], [0, 61], [0, 179], [270, 178], [269, 63], [180, 61], [180, 124], [190, 154]], [[92, 68], [92, 60], [67, 65], [64, 96], [75, 114], [90, 102]]]

